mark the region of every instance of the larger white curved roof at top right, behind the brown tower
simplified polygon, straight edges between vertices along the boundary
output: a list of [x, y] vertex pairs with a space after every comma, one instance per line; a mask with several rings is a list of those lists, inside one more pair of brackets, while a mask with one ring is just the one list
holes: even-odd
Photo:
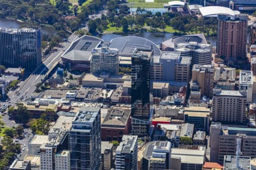
[[199, 8], [201, 14], [203, 16], [208, 17], [217, 17], [218, 14], [228, 14], [230, 16], [237, 15], [237, 11], [233, 11], [230, 8], [222, 7], [222, 6], [207, 6]]

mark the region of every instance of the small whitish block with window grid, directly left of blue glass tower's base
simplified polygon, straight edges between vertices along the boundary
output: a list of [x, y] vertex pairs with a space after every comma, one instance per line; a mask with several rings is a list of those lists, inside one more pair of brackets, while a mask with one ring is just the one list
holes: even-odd
[[55, 154], [55, 170], [70, 169], [70, 151], [64, 150]]

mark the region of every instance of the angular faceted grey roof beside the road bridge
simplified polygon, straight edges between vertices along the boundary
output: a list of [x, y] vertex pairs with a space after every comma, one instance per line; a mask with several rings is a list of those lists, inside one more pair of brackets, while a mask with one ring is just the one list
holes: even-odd
[[84, 35], [73, 41], [61, 57], [70, 60], [88, 61], [92, 49], [96, 48], [100, 43], [101, 39]]

